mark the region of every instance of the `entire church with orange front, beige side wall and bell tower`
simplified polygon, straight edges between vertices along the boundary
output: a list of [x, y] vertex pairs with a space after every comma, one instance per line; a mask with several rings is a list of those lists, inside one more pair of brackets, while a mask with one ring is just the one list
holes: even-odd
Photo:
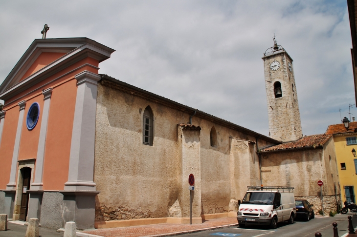
[[114, 50], [94, 40], [34, 40], [0, 86], [0, 213], [53, 229], [189, 223], [192, 192], [202, 223], [235, 217], [247, 186], [316, 201], [319, 179], [333, 208], [332, 136], [303, 137], [292, 59], [274, 44], [267, 137], [99, 74]]

